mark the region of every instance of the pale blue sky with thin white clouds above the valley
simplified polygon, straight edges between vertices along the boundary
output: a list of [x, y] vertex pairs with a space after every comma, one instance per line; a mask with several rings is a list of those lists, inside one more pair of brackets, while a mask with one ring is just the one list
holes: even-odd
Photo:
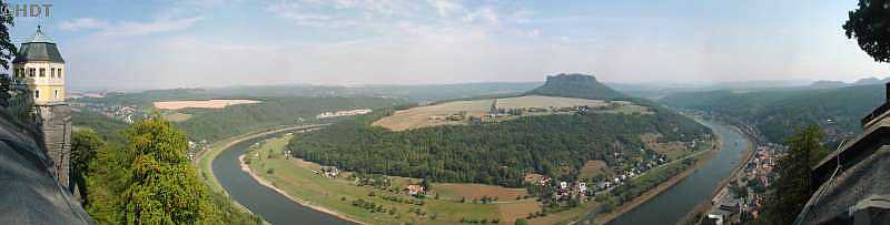
[[887, 76], [847, 39], [854, 0], [82, 0], [16, 18], [69, 89]]

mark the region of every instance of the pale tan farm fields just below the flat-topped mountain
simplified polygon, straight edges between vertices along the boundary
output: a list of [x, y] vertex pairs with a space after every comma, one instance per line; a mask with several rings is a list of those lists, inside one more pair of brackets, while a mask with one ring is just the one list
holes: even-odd
[[[525, 112], [522, 115], [486, 117], [492, 113], [492, 104], [495, 104], [496, 109], [504, 111], [528, 109], [543, 109], [546, 111]], [[502, 122], [524, 115], [571, 113], [564, 111], [555, 112], [554, 110], [575, 106], [590, 106], [593, 113], [652, 113], [649, 111], [649, 108], [636, 105], [627, 101], [606, 102], [604, 100], [525, 95], [504, 99], [443, 102], [433, 105], [417, 106], [396, 111], [393, 115], [377, 120], [372, 123], [372, 125], [383, 126], [392, 131], [406, 131], [438, 125], [465, 125], [469, 123], [469, 117], [483, 119], [483, 121], [486, 122]], [[448, 117], [449, 115], [461, 114], [463, 115], [455, 120]]]

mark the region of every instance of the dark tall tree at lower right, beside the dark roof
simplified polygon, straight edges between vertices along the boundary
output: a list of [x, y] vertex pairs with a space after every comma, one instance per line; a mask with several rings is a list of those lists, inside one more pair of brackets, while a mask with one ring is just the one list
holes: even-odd
[[810, 165], [813, 154], [823, 151], [824, 133], [817, 125], [794, 132], [788, 139], [789, 152], [777, 164], [778, 178], [767, 205], [765, 219], [791, 224], [810, 200]]

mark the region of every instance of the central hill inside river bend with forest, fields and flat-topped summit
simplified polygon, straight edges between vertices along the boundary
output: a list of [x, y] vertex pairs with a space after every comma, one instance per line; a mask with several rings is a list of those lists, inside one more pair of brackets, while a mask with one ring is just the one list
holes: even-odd
[[[582, 99], [553, 98], [554, 95]], [[636, 102], [606, 103], [603, 100], [590, 100], [623, 96], [624, 94], [600, 84], [593, 76], [561, 74], [550, 76], [544, 85], [527, 92], [525, 96], [457, 101], [449, 102], [454, 105], [442, 108], [432, 105], [400, 112], [375, 113], [294, 139], [288, 147], [295, 156], [362, 173], [515, 187], [523, 184], [522, 178], [528, 173], [574, 180], [578, 170], [591, 160], [602, 160], [609, 166], [626, 168], [625, 162], [663, 156], [651, 150], [639, 151], [646, 149], [641, 140], [646, 133], [659, 134], [659, 142], [704, 140], [704, 136], [711, 133], [708, 127], [695, 121], [650, 102], [640, 101], [642, 104], [640, 105]], [[517, 111], [502, 110], [508, 105], [521, 108], [534, 104], [530, 109], [548, 108], [542, 105], [558, 109], [553, 106], [573, 105], [578, 102], [602, 104], [592, 106], [590, 112], [595, 112], [593, 109], [599, 110], [599, 108], [603, 108], [604, 112], [587, 113], [567, 108], [566, 111], [554, 110], [554, 113], [535, 116], [505, 113], [508, 114], [505, 115], [506, 119], [492, 116], [494, 113], [491, 113], [492, 108], [505, 112]], [[635, 105], [636, 110], [612, 109], [615, 104]], [[376, 123], [375, 121], [394, 114], [404, 115], [405, 120], [412, 117], [423, 121], [449, 120], [439, 119], [435, 113], [457, 106], [464, 113], [457, 114], [461, 116], [459, 120], [455, 119], [452, 122], [464, 120], [471, 122], [396, 131], [386, 129], [385, 124], [384, 127], [379, 124], [372, 125]], [[415, 113], [411, 113], [412, 110], [419, 112], [414, 115]], [[609, 110], [614, 111], [606, 113]], [[523, 113], [532, 111], [517, 114]], [[486, 114], [484, 116], [490, 119], [478, 117], [475, 121], [464, 119], [474, 117], [475, 114]], [[452, 114], [452, 116], [457, 115]], [[614, 157], [615, 155], [621, 156]]]

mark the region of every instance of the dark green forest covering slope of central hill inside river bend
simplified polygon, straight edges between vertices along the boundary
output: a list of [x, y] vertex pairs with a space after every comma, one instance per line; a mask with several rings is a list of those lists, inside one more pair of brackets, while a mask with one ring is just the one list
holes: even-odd
[[[291, 140], [297, 157], [360, 173], [425, 177], [508, 187], [526, 173], [574, 180], [589, 160], [607, 163], [640, 153], [639, 135], [691, 141], [711, 131], [680, 114], [652, 108], [654, 114], [527, 116], [500, 123], [447, 125], [393, 132], [372, 126], [380, 112], [343, 121]], [[565, 170], [570, 168], [570, 170]]]

